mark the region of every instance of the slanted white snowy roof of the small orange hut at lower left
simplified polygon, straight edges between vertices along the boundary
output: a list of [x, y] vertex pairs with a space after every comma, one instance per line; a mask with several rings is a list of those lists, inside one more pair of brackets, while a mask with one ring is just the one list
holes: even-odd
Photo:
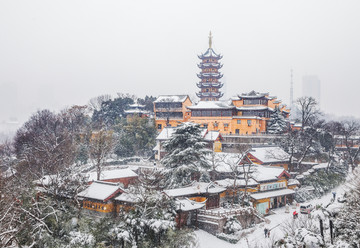
[[109, 183], [96, 181], [93, 182], [87, 189], [78, 194], [79, 197], [106, 201], [111, 196], [115, 196], [124, 190], [117, 183]]

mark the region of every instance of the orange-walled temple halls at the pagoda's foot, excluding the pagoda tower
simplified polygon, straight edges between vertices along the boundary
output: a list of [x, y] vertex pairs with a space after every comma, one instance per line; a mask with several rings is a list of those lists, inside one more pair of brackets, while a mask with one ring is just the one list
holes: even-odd
[[[184, 101], [175, 103], [172, 100], [180, 98]], [[280, 109], [285, 119], [290, 114], [290, 110], [275, 96], [256, 91], [226, 101], [199, 101], [194, 105], [185, 99], [185, 96], [160, 96], [155, 101], [155, 122], [159, 131], [166, 126], [176, 127], [181, 122], [191, 121], [221, 134], [263, 134], [266, 133], [267, 121], [275, 108]]]

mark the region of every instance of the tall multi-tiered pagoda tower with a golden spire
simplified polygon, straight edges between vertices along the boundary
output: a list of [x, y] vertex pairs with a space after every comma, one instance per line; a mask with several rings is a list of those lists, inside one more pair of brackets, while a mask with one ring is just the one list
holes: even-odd
[[201, 72], [197, 74], [200, 78], [200, 82], [197, 83], [200, 92], [196, 93], [196, 95], [201, 101], [218, 101], [223, 96], [223, 93], [220, 91], [223, 83], [219, 81], [223, 77], [223, 74], [219, 72], [219, 69], [222, 67], [219, 60], [222, 56], [215, 53], [212, 48], [211, 32], [209, 35], [209, 48], [198, 57], [201, 59], [201, 63], [198, 64]]

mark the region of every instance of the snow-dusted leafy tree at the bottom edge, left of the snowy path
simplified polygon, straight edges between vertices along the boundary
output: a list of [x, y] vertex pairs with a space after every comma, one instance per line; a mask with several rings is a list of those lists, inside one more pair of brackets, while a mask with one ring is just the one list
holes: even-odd
[[[189, 231], [175, 230], [175, 203], [146, 185], [131, 188], [136, 201], [130, 211], [120, 212], [120, 221], [111, 228], [113, 244], [125, 247], [190, 247], [194, 244]], [[182, 242], [179, 242], [182, 240]]]

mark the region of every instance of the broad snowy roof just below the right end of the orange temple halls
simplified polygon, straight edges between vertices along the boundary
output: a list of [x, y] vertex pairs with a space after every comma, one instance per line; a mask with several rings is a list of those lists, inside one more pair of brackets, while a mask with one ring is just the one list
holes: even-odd
[[254, 147], [249, 153], [263, 163], [278, 163], [290, 159], [290, 155], [278, 146]]

